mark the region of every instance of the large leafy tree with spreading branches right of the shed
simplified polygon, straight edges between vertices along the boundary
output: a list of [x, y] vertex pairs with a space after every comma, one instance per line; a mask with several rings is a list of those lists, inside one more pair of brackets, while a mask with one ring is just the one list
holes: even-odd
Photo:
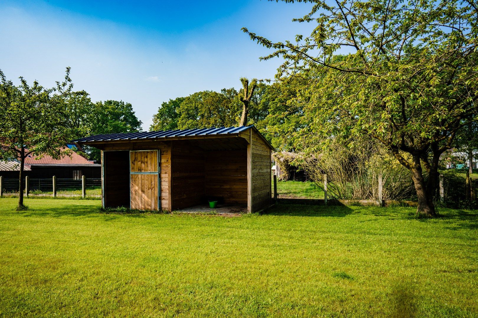
[[[285, 59], [278, 78], [312, 73], [303, 96], [313, 125], [298, 134], [308, 144], [323, 136], [376, 138], [412, 173], [417, 214], [435, 216], [440, 155], [458, 130], [478, 120], [477, 3], [299, 2], [313, 3], [294, 19], [315, 24], [310, 36], [272, 42], [243, 28], [275, 50], [262, 59]], [[338, 50], [349, 54], [336, 59]]]

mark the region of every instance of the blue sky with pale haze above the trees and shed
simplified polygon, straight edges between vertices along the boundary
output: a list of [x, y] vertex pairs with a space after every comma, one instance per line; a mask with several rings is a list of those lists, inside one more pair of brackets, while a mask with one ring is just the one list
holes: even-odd
[[240, 31], [272, 40], [309, 34], [308, 5], [244, 1], [0, 1], [0, 69], [53, 86], [66, 66], [93, 101], [123, 100], [148, 130], [161, 103], [273, 78], [280, 60]]

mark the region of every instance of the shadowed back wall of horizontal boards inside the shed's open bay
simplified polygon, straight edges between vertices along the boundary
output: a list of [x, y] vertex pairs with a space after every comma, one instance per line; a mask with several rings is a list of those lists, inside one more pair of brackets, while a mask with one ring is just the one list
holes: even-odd
[[206, 152], [206, 195], [227, 204], [247, 204], [247, 150]]

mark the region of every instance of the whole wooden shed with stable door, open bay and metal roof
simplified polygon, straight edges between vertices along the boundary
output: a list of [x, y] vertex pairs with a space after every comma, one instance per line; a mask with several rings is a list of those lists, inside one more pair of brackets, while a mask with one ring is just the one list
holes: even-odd
[[103, 207], [176, 211], [217, 197], [255, 212], [271, 204], [273, 147], [252, 126], [102, 134]]

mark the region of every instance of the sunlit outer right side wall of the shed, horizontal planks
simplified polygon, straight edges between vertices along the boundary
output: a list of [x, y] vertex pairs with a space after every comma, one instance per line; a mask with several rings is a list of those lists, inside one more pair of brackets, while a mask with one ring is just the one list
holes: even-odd
[[271, 148], [252, 130], [252, 212], [271, 204]]

